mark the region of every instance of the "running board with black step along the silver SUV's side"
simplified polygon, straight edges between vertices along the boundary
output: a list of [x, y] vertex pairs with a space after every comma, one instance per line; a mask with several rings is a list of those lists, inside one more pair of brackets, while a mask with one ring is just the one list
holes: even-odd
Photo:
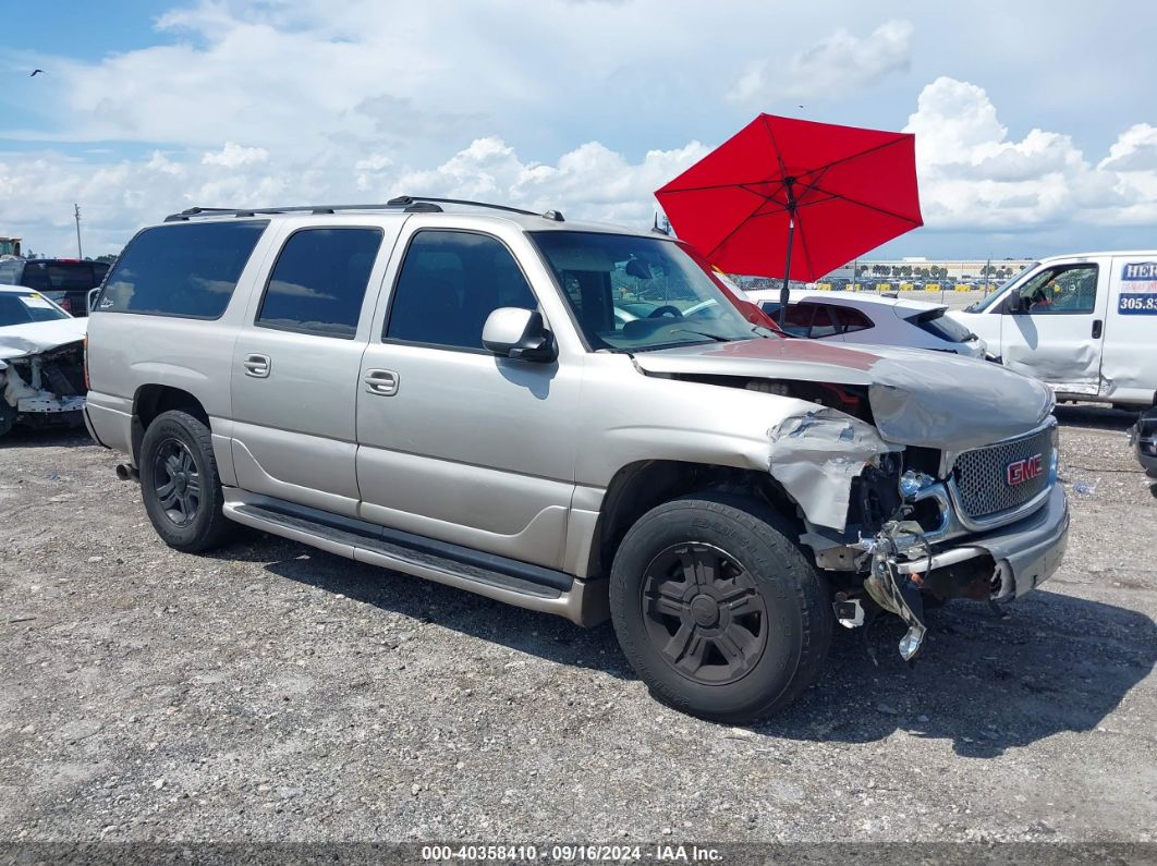
[[578, 626], [609, 617], [605, 582], [224, 488], [224, 516], [338, 556], [455, 586]]

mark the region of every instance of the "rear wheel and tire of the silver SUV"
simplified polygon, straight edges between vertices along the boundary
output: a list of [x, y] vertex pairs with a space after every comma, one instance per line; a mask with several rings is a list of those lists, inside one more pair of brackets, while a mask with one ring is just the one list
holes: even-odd
[[162, 413], [141, 442], [141, 499], [153, 528], [184, 553], [224, 543], [234, 524], [221, 511], [224, 496], [209, 428], [187, 412]]

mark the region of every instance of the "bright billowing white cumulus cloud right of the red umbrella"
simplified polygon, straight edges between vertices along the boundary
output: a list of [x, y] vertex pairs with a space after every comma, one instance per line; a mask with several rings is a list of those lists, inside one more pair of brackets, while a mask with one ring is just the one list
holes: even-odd
[[1009, 139], [988, 94], [946, 76], [908, 118], [924, 222], [930, 229], [1033, 231], [1157, 220], [1157, 129], [1138, 124], [1092, 165], [1069, 135]]

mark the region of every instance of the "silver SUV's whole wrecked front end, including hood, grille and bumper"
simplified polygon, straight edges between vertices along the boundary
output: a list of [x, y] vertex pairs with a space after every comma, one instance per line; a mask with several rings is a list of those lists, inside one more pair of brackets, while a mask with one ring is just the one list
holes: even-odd
[[849, 628], [880, 610], [920, 651], [924, 607], [1002, 601], [1060, 565], [1069, 515], [1056, 484], [1053, 395], [956, 355], [812, 340], [648, 353], [646, 373], [791, 400], [767, 431], [766, 468], [803, 523], [799, 541]]

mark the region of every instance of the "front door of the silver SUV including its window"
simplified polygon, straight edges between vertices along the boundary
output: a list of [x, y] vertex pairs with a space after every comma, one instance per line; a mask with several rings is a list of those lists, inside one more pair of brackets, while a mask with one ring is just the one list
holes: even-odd
[[482, 325], [538, 301], [508, 246], [421, 229], [362, 361], [362, 517], [559, 568], [574, 490], [581, 358], [495, 357]]

